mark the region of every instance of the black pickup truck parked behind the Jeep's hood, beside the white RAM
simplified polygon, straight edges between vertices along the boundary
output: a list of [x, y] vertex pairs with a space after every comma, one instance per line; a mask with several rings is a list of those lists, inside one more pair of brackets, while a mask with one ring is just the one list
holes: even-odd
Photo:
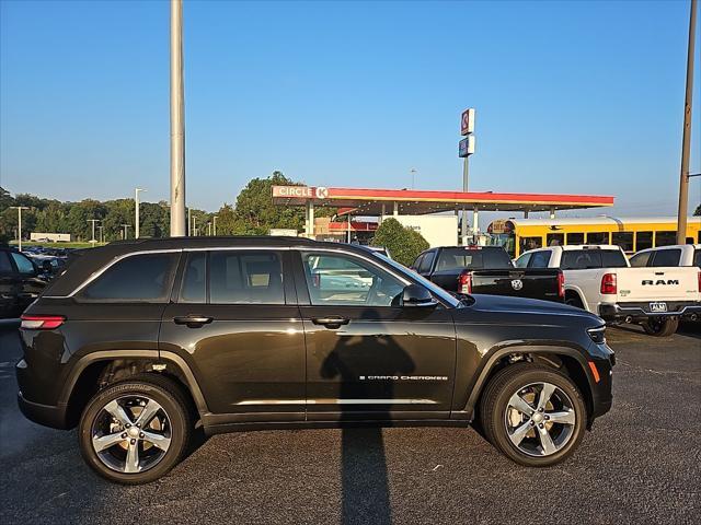
[[516, 268], [501, 246], [446, 246], [423, 252], [411, 268], [449, 292], [564, 302], [561, 270]]

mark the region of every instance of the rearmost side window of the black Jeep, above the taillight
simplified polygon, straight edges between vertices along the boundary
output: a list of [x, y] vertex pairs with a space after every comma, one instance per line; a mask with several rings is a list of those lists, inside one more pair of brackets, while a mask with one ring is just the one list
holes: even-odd
[[173, 254], [126, 257], [88, 284], [81, 296], [106, 301], [165, 301], [175, 260]]

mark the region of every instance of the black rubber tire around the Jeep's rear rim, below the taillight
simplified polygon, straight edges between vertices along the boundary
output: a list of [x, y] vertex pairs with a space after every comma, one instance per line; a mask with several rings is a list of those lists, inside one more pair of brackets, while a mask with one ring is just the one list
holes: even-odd
[[[154, 447], [153, 451], [156, 451], [156, 454], [160, 454], [162, 457], [143, 471], [129, 474], [117, 471], [107, 466], [95, 452], [92, 443], [93, 429], [97, 423], [97, 418], [105, 417], [103, 409], [107, 404], [116, 399], [138, 398], [141, 396], [157, 401], [162, 409], [159, 413], [161, 417], [164, 415], [164, 417], [168, 418], [169, 446], [164, 453], [160, 452], [160, 448], [157, 451]], [[130, 416], [133, 416], [133, 413]], [[187, 451], [193, 425], [193, 415], [189, 409], [189, 404], [180, 385], [158, 374], [140, 374], [107, 386], [95, 394], [90, 402], [88, 402], [78, 427], [80, 452], [85, 463], [95, 472], [110, 481], [123, 485], [149, 483], [168, 474], [180, 463]], [[122, 431], [119, 430], [118, 432]], [[125, 441], [128, 442], [129, 440], [127, 439]], [[113, 446], [122, 445], [117, 444]], [[137, 445], [137, 447], [139, 445]], [[145, 454], [143, 446], [150, 447], [153, 445], [145, 442], [141, 446], [140, 454]], [[117, 453], [118, 452], [117, 450]]]

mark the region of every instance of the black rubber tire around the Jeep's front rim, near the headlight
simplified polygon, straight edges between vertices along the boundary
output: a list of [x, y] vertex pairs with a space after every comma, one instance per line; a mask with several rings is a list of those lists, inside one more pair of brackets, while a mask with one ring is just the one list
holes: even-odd
[[[540, 382], [554, 385], [566, 394], [572, 405], [571, 408], [574, 410], [575, 422], [572, 425], [570, 438], [563, 442], [562, 448], [551, 455], [533, 456], [522, 452], [512, 442], [506, 427], [506, 418], [512, 396], [524, 387]], [[487, 441], [509, 459], [527, 467], [549, 467], [570, 457], [584, 436], [587, 421], [586, 404], [574, 382], [554, 369], [532, 363], [513, 364], [498, 372], [484, 389], [480, 400], [480, 415], [481, 425]], [[537, 432], [537, 429], [533, 432]], [[538, 438], [538, 434], [535, 435]]]

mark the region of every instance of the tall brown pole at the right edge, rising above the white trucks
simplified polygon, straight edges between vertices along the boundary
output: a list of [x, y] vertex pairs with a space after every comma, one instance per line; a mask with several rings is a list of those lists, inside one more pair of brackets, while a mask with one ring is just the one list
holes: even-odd
[[677, 212], [677, 244], [687, 242], [689, 206], [689, 156], [691, 148], [691, 95], [693, 93], [693, 54], [697, 33], [697, 0], [691, 0], [689, 13], [689, 45], [687, 47], [687, 95], [683, 103], [683, 135], [681, 138], [681, 171], [679, 174], [679, 210]]

